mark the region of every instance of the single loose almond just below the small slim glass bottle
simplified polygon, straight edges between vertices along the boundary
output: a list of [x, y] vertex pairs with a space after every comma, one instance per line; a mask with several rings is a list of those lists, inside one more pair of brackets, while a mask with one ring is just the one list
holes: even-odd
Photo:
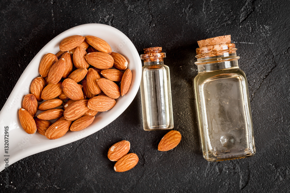
[[181, 135], [179, 131], [171, 130], [162, 137], [158, 144], [159, 151], [168, 151], [175, 148], [181, 141]]

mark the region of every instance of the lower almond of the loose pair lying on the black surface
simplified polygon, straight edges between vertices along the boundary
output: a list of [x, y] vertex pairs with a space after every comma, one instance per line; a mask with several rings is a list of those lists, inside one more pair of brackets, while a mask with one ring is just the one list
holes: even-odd
[[137, 165], [138, 161], [139, 158], [135, 153], [129, 153], [127, 155], [124, 155], [115, 163], [114, 170], [116, 172], [126, 172], [134, 168]]

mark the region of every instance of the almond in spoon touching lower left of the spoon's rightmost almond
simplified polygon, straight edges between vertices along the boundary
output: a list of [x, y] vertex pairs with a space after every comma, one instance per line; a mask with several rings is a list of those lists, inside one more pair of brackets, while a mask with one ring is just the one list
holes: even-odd
[[96, 80], [100, 89], [110, 98], [117, 99], [121, 95], [119, 86], [112, 80], [100, 78]]

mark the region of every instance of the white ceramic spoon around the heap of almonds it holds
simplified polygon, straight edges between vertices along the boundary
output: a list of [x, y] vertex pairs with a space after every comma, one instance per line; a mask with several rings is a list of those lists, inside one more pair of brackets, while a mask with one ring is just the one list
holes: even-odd
[[[112, 109], [98, 113], [94, 122], [84, 130], [68, 131], [66, 135], [55, 140], [49, 140], [37, 132], [32, 135], [27, 134], [21, 127], [18, 118], [18, 110], [22, 106], [24, 95], [30, 93], [32, 80], [40, 76], [38, 68], [43, 56], [47, 53], [59, 52], [59, 43], [72, 35], [97, 36], [107, 41], [113, 52], [125, 56], [128, 60], [128, 68], [132, 71], [131, 87], [126, 95], [117, 99], [116, 105]], [[31, 60], [0, 111], [0, 171], [24, 157], [87, 137], [114, 121], [135, 98], [141, 81], [141, 69], [141, 60], [135, 46], [125, 34], [114, 27], [89, 23], [73, 27], [53, 38]], [[5, 149], [8, 153], [5, 152]]]

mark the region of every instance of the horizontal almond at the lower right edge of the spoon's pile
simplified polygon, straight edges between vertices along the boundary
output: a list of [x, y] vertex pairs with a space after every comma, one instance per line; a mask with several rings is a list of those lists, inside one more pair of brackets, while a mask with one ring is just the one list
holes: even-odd
[[108, 96], [95, 96], [88, 101], [88, 108], [99, 111], [99, 112], [104, 112], [108, 111], [115, 106], [116, 101]]

